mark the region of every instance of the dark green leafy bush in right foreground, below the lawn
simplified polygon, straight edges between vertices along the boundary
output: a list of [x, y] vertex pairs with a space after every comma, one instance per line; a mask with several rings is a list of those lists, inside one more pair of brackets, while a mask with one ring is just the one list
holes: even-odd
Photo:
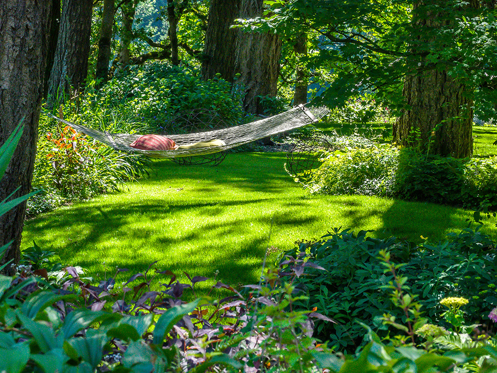
[[377, 259], [382, 249], [391, 253], [394, 262], [406, 263], [400, 271], [409, 278], [411, 293], [417, 295], [432, 323], [443, 325], [438, 302], [446, 296], [470, 300], [466, 307], [469, 324], [484, 321], [485, 312], [497, 305], [496, 244], [488, 236], [468, 229], [437, 245], [413, 246], [395, 237], [376, 239], [366, 234], [335, 229], [310, 246], [302, 244], [285, 253], [306, 253], [309, 260], [326, 269], [307, 268], [305, 276], [294, 281], [309, 297], [300, 301], [301, 309], [316, 307], [317, 312], [337, 322], [317, 322], [318, 338], [354, 351], [364, 335], [357, 321], [380, 337], [389, 332], [381, 322], [384, 313], [405, 321], [402, 310], [393, 307], [391, 294], [383, 287], [393, 276], [384, 273], [385, 267]]

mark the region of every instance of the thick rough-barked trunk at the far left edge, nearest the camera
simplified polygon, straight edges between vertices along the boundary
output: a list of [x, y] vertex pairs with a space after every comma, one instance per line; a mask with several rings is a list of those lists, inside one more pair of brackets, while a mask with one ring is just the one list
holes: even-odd
[[[0, 200], [31, 189], [48, 46], [51, 0], [0, 1], [0, 145], [23, 120], [24, 133], [0, 181]], [[0, 247], [13, 240], [0, 264], [18, 263], [26, 204], [0, 216]], [[12, 274], [13, 268], [6, 268]]]

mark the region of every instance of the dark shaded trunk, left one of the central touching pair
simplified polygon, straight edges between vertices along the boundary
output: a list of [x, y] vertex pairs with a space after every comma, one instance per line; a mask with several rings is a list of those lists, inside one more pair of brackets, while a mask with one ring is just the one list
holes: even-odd
[[202, 79], [216, 74], [233, 83], [235, 49], [239, 31], [230, 29], [239, 15], [241, 0], [211, 0], [205, 34]]

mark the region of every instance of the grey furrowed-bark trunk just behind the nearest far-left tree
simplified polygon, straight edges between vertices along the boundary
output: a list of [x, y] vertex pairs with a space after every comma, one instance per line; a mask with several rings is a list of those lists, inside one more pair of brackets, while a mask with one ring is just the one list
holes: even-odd
[[71, 89], [84, 89], [88, 73], [92, 0], [67, 0], [62, 5], [61, 25], [48, 95], [51, 103]]

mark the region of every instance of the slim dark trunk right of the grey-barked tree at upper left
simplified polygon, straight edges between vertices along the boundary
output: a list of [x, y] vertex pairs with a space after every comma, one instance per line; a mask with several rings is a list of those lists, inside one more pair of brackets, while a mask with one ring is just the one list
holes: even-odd
[[98, 40], [98, 56], [96, 59], [95, 78], [100, 81], [97, 87], [105, 84], [109, 78], [110, 43], [114, 24], [114, 0], [103, 1], [102, 25]]

